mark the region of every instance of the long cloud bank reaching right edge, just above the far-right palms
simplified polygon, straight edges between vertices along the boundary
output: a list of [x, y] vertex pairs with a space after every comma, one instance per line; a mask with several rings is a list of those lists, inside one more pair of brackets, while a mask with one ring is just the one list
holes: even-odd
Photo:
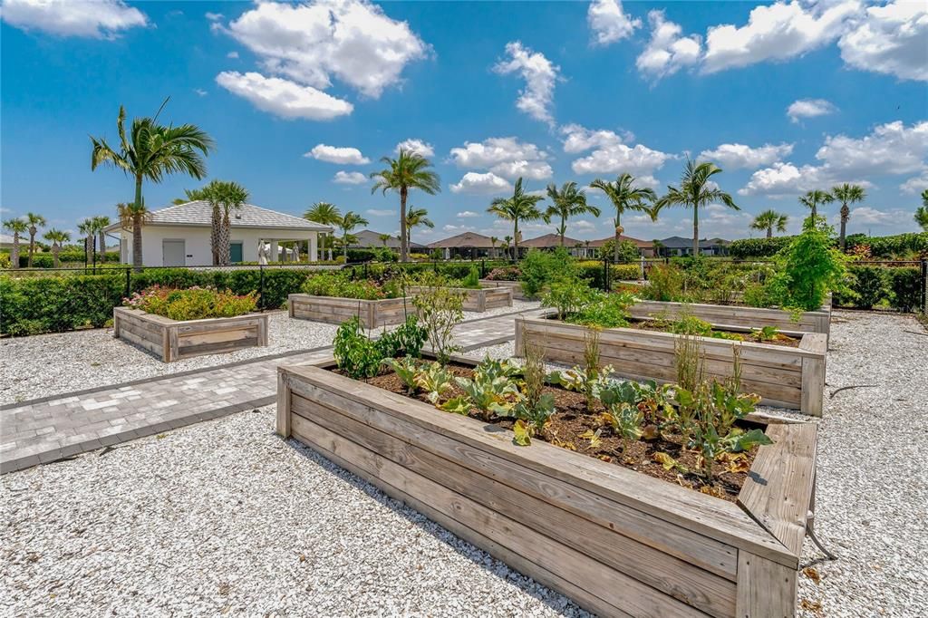
[[870, 178], [923, 172], [928, 166], [928, 122], [908, 127], [901, 121], [888, 122], [860, 138], [830, 135], [818, 148], [816, 159], [819, 165], [776, 162], [754, 172], [739, 193], [796, 195], [844, 182], [871, 187]]

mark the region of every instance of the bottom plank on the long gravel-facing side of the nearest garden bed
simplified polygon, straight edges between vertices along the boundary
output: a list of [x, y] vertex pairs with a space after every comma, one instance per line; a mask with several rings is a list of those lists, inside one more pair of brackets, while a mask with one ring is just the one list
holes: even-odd
[[[293, 434], [342, 460], [349, 461], [374, 484], [387, 483], [408, 496], [427, 499], [432, 509], [472, 529], [480, 530], [497, 544], [522, 555], [532, 575], [535, 564], [550, 573], [574, 582], [588, 593], [595, 593], [612, 606], [634, 616], [704, 616], [677, 599], [608, 569], [580, 551], [539, 534], [519, 521], [503, 517], [469, 498], [447, 489], [440, 483], [408, 470], [379, 454], [354, 444], [302, 417], [294, 417]], [[442, 521], [439, 521], [441, 523]]]

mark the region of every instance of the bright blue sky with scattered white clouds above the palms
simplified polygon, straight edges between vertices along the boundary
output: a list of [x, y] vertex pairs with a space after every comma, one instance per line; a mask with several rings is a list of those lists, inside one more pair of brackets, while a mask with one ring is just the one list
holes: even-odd
[[[442, 179], [439, 195], [412, 198], [436, 223], [414, 232], [422, 242], [505, 236], [509, 224], [485, 210], [519, 175], [541, 190], [627, 171], [660, 192], [687, 154], [718, 163], [742, 209], [710, 206], [708, 237], [747, 237], [767, 208], [789, 214], [793, 231], [797, 195], [839, 182], [867, 187], [850, 232], [913, 231], [928, 187], [919, 2], [6, 0], [0, 10], [4, 218], [41, 212], [74, 229], [112, 216], [132, 182], [90, 171], [88, 135], [114, 139], [121, 104], [151, 115], [168, 96], [163, 120], [213, 135], [209, 177], [282, 212], [326, 200], [395, 233], [396, 197], [371, 195], [364, 176], [400, 143], [422, 149]], [[200, 184], [148, 183], [146, 202]], [[611, 234], [607, 201], [589, 200], [604, 214], [572, 222], [574, 238]], [[688, 236], [690, 216], [624, 224], [638, 238]]]

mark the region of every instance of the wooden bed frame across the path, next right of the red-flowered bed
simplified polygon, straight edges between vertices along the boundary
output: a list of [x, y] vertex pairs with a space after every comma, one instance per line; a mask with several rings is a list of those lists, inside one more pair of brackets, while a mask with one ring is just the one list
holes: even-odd
[[287, 297], [290, 317], [342, 324], [357, 315], [364, 328], [402, 324], [407, 313], [415, 313], [408, 298], [385, 298], [362, 301], [354, 298], [290, 294]]

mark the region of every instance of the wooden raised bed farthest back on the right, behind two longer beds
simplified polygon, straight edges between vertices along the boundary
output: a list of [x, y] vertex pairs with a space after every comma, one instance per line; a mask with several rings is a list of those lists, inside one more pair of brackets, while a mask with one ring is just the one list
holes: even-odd
[[688, 313], [721, 328], [772, 326], [787, 333], [820, 332], [826, 335], [831, 329], [831, 309], [826, 310], [824, 307], [822, 311], [806, 311], [798, 314], [798, 320], [793, 320], [791, 312], [780, 309], [724, 304], [637, 301], [628, 308], [628, 312], [632, 317], [637, 318], [664, 316], [669, 319], [676, 319], [681, 313]]

